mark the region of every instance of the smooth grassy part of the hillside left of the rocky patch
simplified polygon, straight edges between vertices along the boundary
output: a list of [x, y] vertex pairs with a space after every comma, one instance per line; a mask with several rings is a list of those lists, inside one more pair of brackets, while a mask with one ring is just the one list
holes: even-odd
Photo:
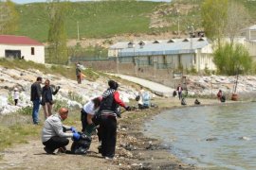
[[[81, 37], [87, 38], [149, 32], [150, 19], [147, 16], [159, 4], [128, 1], [70, 3], [66, 16], [68, 38], [77, 38], [77, 22]], [[20, 28], [16, 34], [45, 42], [48, 30], [46, 3], [19, 5], [17, 8]]]

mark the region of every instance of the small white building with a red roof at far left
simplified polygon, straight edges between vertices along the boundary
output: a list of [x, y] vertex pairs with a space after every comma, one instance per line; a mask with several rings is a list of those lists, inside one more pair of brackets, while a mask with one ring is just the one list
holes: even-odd
[[45, 46], [26, 36], [0, 35], [0, 58], [17, 58], [45, 63]]

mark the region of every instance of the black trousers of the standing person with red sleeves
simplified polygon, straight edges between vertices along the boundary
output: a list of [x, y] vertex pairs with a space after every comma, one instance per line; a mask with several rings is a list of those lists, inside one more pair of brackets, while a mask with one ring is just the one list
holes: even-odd
[[117, 143], [117, 119], [101, 116], [101, 155], [114, 157]]

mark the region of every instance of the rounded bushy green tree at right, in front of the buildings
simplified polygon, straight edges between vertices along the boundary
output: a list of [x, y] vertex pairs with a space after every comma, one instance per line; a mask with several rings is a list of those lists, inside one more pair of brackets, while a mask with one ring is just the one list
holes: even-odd
[[229, 76], [245, 74], [252, 66], [247, 48], [240, 43], [219, 46], [213, 53], [213, 62], [220, 74]]

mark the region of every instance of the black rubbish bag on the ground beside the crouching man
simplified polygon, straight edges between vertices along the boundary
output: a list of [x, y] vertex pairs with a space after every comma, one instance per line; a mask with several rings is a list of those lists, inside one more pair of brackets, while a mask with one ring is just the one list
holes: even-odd
[[90, 148], [92, 138], [90, 136], [85, 135], [82, 132], [78, 132], [80, 134], [80, 139], [78, 141], [74, 141], [71, 145], [71, 153], [83, 155], [87, 153], [87, 150]]

